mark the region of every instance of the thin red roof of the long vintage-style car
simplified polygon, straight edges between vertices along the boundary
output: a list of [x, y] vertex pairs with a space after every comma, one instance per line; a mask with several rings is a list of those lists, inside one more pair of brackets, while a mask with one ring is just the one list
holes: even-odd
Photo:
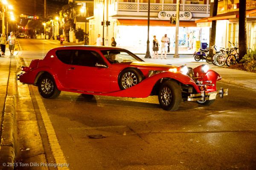
[[53, 48], [53, 50], [65, 50], [65, 49], [90, 49], [90, 50], [113, 50], [113, 49], [122, 49], [117, 47], [108, 47], [108, 46], [96, 46], [96, 45], [70, 45]]

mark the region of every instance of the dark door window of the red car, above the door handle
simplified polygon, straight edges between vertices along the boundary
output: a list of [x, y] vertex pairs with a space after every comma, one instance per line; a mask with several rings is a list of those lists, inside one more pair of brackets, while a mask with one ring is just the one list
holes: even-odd
[[104, 64], [102, 57], [95, 51], [76, 50], [73, 53], [72, 65], [95, 67], [96, 63]]

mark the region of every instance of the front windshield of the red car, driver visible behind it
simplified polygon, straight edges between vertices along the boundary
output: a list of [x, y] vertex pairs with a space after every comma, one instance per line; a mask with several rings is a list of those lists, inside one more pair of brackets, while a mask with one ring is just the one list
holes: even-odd
[[135, 61], [141, 61], [143, 62], [142, 59], [137, 57], [135, 54], [131, 53], [130, 51], [127, 50], [121, 50], [121, 49], [115, 49], [115, 50], [102, 50], [101, 51], [104, 57], [106, 57], [108, 60], [111, 55], [115, 56], [115, 61], [114, 63], [120, 63], [120, 62], [135, 62]]

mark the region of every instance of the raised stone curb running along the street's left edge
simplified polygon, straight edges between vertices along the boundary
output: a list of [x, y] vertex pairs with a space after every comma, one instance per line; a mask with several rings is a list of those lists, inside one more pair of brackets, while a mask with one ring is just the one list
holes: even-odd
[[[3, 113], [0, 141], [0, 170], [13, 170], [17, 156], [16, 142], [16, 93], [17, 60], [10, 60], [8, 89]], [[16, 62], [15, 64], [13, 62]]]

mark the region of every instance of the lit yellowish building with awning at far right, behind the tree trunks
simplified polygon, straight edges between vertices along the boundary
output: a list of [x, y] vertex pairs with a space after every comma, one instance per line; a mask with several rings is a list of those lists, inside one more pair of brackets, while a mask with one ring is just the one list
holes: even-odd
[[[215, 17], [195, 21], [198, 27], [210, 26], [217, 20], [216, 40], [218, 47], [228, 47], [230, 42], [238, 46], [239, 37], [239, 0], [219, 0]], [[256, 49], [256, 1], [246, 0], [247, 48]]]

